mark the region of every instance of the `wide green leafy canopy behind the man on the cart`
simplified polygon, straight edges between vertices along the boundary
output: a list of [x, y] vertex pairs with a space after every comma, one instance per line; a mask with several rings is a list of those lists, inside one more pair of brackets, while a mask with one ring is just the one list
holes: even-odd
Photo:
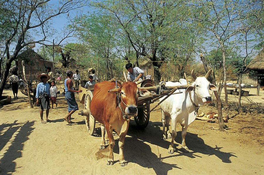
[[146, 57], [153, 61], [157, 74], [164, 60], [180, 61], [177, 67], [184, 71], [186, 62], [193, 59], [197, 35], [194, 25], [187, 22], [185, 1], [101, 1], [92, 5], [97, 11], [76, 18], [75, 23], [94, 54], [108, 60], [107, 70], [121, 60], [136, 64]]

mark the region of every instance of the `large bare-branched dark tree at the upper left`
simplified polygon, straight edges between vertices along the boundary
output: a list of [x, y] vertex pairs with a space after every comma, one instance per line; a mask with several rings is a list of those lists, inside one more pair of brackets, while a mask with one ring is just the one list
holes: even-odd
[[[48, 41], [55, 32], [50, 27], [51, 19], [62, 14], [69, 14], [71, 11], [84, 6], [86, 0], [62, 0], [57, 4], [51, 4], [50, 0], [8, 0], [1, 2], [1, 15], [8, 19], [11, 24], [6, 31], [8, 35], [4, 38], [6, 51], [6, 65], [3, 73], [3, 80], [0, 83], [0, 97], [8, 77], [11, 63], [16, 59], [18, 53], [27, 46], [36, 43], [46, 46], [53, 46]], [[67, 31], [57, 41], [59, 45], [63, 40], [71, 37], [75, 29]]]

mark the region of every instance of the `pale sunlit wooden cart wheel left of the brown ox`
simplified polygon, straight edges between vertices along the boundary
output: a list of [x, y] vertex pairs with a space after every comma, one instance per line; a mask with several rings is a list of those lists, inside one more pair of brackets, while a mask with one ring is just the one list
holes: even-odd
[[90, 90], [88, 90], [85, 95], [84, 109], [86, 109], [87, 114], [89, 114], [88, 116], [86, 116], [85, 124], [87, 127], [87, 131], [90, 135], [94, 133], [94, 129], [95, 129], [95, 119], [90, 112], [90, 104], [91, 104], [92, 98], [93, 98], [93, 93]]

